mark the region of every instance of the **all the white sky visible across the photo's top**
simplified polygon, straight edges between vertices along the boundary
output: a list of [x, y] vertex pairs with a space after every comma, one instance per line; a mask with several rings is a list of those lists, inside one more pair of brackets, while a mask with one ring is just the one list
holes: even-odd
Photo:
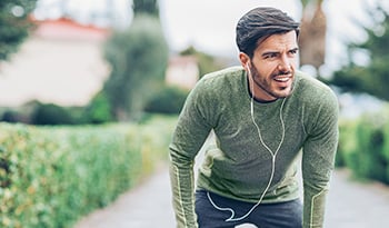
[[[328, 54], [323, 75], [339, 69], [346, 63], [345, 42], [360, 42], [366, 34], [355, 21], [371, 26], [363, 6], [373, 6], [385, 0], [325, 0], [323, 10], [328, 20]], [[58, 17], [60, 11], [50, 8], [61, 0], [39, 0], [37, 14]], [[91, 14], [102, 14], [110, 6], [119, 24], [131, 21], [131, 0], [66, 0], [67, 8], [88, 23]], [[386, 2], [388, 6], [388, 1]], [[159, 0], [160, 18], [167, 40], [173, 51], [189, 46], [219, 56], [237, 56], [235, 27], [239, 18], [255, 7], [276, 7], [286, 11], [295, 20], [301, 18], [299, 0]], [[96, 19], [94, 19], [96, 20]], [[100, 20], [99, 23], [103, 24]], [[362, 61], [362, 60], [361, 60]]]

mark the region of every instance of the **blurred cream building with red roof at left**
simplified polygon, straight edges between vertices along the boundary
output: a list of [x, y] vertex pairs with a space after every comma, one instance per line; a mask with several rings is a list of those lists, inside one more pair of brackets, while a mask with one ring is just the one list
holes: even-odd
[[30, 100], [81, 106], [109, 73], [102, 57], [107, 29], [69, 19], [37, 21], [37, 29], [11, 61], [0, 66], [0, 106]]

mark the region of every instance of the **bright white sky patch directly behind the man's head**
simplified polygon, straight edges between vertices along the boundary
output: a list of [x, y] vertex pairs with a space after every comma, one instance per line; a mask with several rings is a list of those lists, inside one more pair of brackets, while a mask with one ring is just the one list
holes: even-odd
[[258, 6], [282, 7], [296, 19], [299, 14], [292, 0], [283, 3], [281, 0], [161, 0], [161, 20], [172, 47], [183, 49], [193, 44], [203, 51], [226, 54], [237, 50], [237, 21]]

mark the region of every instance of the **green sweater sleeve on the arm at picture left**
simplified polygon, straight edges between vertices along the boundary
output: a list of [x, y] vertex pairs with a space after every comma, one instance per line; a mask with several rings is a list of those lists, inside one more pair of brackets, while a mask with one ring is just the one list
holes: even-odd
[[178, 228], [198, 227], [194, 214], [194, 157], [212, 127], [209, 123], [209, 100], [199, 86], [194, 88], [180, 113], [169, 146], [170, 180]]

